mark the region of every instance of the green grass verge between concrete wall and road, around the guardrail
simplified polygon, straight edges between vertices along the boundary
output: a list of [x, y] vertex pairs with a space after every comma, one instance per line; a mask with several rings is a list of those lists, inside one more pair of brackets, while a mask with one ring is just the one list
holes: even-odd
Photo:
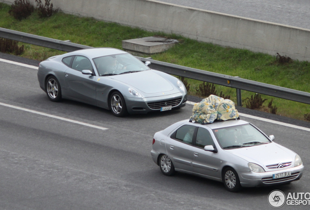
[[[50, 18], [39, 18], [37, 12], [34, 12], [29, 18], [18, 21], [9, 15], [9, 9], [9, 5], [0, 4], [0, 27], [2, 28], [59, 40], [71, 40], [73, 43], [92, 47], [113, 47], [118, 49], [122, 49], [122, 40], [154, 35], [164, 36], [177, 39], [179, 43], [164, 53], [152, 55], [155, 60], [310, 92], [309, 62], [293, 61], [279, 64], [275, 56], [264, 53], [252, 53], [248, 50], [221, 47], [174, 34], [149, 32], [61, 12]], [[39, 61], [53, 55], [65, 53], [19, 43], [19, 45], [22, 44], [25, 52], [21, 56]], [[188, 79], [188, 82], [191, 84], [189, 93], [196, 95], [196, 88], [202, 82], [191, 79]], [[216, 85], [216, 90], [217, 92], [223, 91], [225, 95], [231, 95], [231, 100], [236, 103], [235, 89]], [[245, 99], [250, 98], [255, 93], [242, 90], [241, 94], [242, 99]], [[262, 98], [268, 99], [264, 103], [267, 107], [272, 97], [263, 95]], [[299, 120], [304, 120], [304, 114], [310, 113], [310, 105], [289, 100], [273, 98], [272, 105], [278, 108], [277, 114]]]

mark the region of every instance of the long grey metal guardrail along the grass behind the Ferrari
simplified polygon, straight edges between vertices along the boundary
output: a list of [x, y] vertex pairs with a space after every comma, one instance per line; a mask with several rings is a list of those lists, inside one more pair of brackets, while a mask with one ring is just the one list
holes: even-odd
[[[9, 29], [0, 28], [0, 37], [8, 38], [24, 43], [38, 45], [42, 47], [52, 48], [65, 52], [72, 52], [80, 49], [89, 49], [92, 47], [61, 41], [57, 39], [47, 38], [39, 35], [31, 35], [17, 32]], [[240, 90], [247, 90], [255, 93], [269, 95], [277, 98], [296, 101], [304, 104], [310, 104], [310, 93], [290, 88], [282, 88], [279, 86], [269, 85], [266, 83], [255, 82], [252, 80], [233, 77], [225, 74], [214, 73], [205, 70], [198, 70], [189, 67], [179, 66], [166, 62], [156, 61], [149, 58], [137, 57], [141, 61], [151, 61], [150, 67], [176, 76], [195, 79], [203, 82], [209, 82], [221, 86], [237, 89], [237, 105], [241, 106]]]

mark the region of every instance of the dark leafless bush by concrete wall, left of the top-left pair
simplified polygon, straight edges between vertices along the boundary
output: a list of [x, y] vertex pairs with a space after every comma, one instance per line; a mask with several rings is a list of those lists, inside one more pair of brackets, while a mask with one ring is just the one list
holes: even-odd
[[13, 15], [15, 19], [21, 20], [27, 18], [35, 10], [35, 7], [29, 0], [15, 0], [11, 5], [9, 14]]

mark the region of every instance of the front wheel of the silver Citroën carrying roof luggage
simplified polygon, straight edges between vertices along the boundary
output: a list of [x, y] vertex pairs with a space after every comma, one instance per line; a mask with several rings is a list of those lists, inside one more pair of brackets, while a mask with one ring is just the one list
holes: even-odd
[[224, 170], [223, 182], [225, 188], [230, 192], [237, 192], [241, 190], [238, 174], [233, 168], [229, 167]]

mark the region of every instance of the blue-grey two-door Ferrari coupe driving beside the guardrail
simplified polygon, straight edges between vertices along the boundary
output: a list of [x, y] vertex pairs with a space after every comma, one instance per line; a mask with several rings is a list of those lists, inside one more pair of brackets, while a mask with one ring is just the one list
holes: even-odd
[[51, 101], [71, 99], [110, 109], [118, 117], [184, 106], [184, 84], [148, 65], [118, 49], [92, 48], [42, 61], [38, 80]]

